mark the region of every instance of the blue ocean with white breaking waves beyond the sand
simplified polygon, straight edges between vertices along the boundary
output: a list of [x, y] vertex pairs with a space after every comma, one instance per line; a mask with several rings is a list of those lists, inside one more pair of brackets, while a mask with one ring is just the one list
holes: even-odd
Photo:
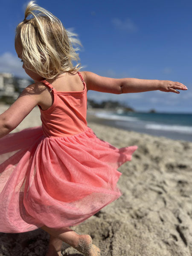
[[192, 141], [192, 113], [118, 113], [96, 109], [89, 113], [117, 128]]

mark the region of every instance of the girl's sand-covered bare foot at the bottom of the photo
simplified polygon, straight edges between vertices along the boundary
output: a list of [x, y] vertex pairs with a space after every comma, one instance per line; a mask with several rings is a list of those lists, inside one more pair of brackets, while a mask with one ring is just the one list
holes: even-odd
[[100, 256], [100, 249], [95, 244], [92, 244], [92, 239], [89, 235], [79, 235], [79, 242], [74, 248], [83, 253], [84, 256]]

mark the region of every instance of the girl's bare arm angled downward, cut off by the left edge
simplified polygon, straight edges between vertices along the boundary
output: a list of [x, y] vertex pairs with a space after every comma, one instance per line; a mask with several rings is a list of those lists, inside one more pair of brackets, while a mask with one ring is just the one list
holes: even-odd
[[34, 86], [26, 87], [18, 99], [0, 115], [0, 138], [9, 134], [38, 105], [39, 93]]

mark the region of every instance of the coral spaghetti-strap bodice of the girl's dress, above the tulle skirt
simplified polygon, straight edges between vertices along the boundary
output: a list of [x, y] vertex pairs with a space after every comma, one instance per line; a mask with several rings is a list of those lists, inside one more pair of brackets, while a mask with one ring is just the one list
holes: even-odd
[[82, 91], [58, 92], [46, 80], [41, 81], [50, 88], [54, 98], [47, 110], [38, 106], [45, 137], [70, 136], [86, 130], [87, 88], [81, 73], [78, 75], [84, 84]]

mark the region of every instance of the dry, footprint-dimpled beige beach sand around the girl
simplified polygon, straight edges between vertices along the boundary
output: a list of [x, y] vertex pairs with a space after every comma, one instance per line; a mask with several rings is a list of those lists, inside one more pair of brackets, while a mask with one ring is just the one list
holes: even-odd
[[[35, 108], [15, 131], [37, 125]], [[74, 230], [90, 234], [102, 256], [192, 256], [192, 143], [88, 125], [100, 139], [138, 150], [119, 168], [123, 195]], [[41, 229], [0, 233], [0, 256], [44, 256], [48, 239]], [[81, 254], [64, 244], [62, 255]]]

